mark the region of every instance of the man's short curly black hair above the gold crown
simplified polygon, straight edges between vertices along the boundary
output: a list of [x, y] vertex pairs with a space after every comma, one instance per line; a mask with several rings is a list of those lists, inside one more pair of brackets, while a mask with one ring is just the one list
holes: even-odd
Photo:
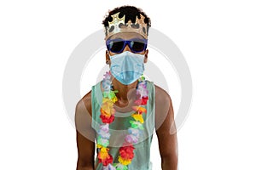
[[125, 15], [125, 24], [131, 20], [131, 23], [136, 22], [136, 18], [141, 19], [140, 14], [142, 14], [145, 19], [144, 22], [147, 24], [147, 34], [148, 29], [151, 26], [150, 18], [148, 18], [147, 14], [143, 12], [141, 8], [136, 8], [134, 6], [121, 6], [118, 8], [114, 8], [112, 11], [108, 12], [108, 16], [102, 21], [102, 24], [104, 25], [105, 29], [108, 28], [108, 22], [111, 22], [113, 18], [111, 15], [119, 13], [119, 18], [122, 18]]

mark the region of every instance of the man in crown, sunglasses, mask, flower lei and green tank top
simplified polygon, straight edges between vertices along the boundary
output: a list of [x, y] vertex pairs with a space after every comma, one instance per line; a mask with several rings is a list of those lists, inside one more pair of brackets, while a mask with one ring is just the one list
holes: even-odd
[[[78, 170], [148, 170], [156, 131], [163, 170], [177, 170], [172, 99], [142, 76], [150, 19], [123, 6], [103, 20], [108, 71], [76, 106]], [[95, 156], [96, 149], [96, 156]]]

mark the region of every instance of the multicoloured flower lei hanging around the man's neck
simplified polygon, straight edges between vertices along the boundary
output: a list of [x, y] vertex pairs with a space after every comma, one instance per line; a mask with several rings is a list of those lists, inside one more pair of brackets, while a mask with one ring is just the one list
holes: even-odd
[[100, 149], [97, 154], [99, 162], [102, 162], [103, 170], [127, 170], [133, 159], [135, 150], [133, 144], [137, 144], [139, 135], [143, 130], [143, 113], [147, 113], [147, 110], [141, 105], [147, 105], [148, 90], [145, 77], [140, 77], [137, 85], [137, 99], [135, 100], [136, 106], [132, 109], [135, 111], [131, 116], [134, 120], [130, 121], [131, 127], [128, 128], [128, 133], [125, 135], [125, 142], [122, 147], [119, 148], [119, 163], [113, 163], [113, 156], [108, 151], [108, 144], [110, 139], [109, 124], [114, 120], [115, 109], [113, 104], [118, 100], [113, 91], [111, 83], [111, 73], [106, 72], [102, 81], [102, 88], [104, 89], [102, 98], [101, 116], [102, 124], [98, 130], [97, 148]]

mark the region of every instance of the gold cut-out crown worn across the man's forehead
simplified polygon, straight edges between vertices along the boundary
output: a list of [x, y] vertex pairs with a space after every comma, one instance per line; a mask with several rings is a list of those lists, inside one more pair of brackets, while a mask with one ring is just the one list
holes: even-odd
[[140, 16], [141, 19], [136, 17], [135, 23], [131, 23], [131, 20], [128, 20], [125, 25], [125, 15], [121, 19], [119, 18], [119, 13], [111, 15], [113, 20], [108, 22], [108, 26], [105, 27], [105, 40], [119, 32], [137, 32], [145, 39], [148, 39], [147, 24], [144, 22], [145, 17], [142, 14]]

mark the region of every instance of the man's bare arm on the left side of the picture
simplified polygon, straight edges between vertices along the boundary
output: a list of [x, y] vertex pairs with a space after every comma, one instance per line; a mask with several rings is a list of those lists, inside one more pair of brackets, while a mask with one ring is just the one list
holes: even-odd
[[95, 131], [91, 124], [90, 93], [76, 106], [75, 123], [77, 130], [78, 162], [77, 170], [94, 170]]

